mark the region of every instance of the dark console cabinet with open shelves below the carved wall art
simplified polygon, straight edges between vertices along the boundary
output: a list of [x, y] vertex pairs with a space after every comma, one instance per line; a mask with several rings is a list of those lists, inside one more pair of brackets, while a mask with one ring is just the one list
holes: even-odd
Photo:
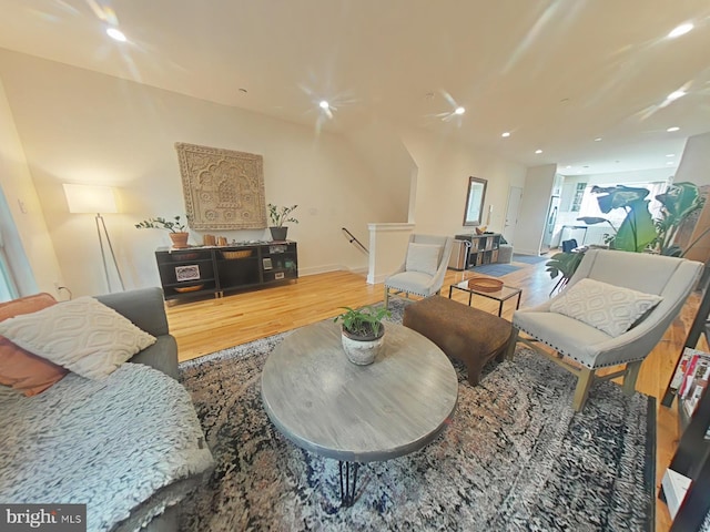
[[298, 278], [296, 243], [155, 250], [165, 300], [257, 288]]

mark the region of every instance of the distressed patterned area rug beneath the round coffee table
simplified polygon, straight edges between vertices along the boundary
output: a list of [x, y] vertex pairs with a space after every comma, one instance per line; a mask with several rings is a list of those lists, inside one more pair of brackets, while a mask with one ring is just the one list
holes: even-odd
[[337, 462], [295, 447], [262, 407], [261, 369], [285, 335], [181, 365], [217, 466], [181, 505], [180, 530], [652, 530], [652, 398], [604, 381], [574, 415], [571, 376], [527, 349], [475, 388], [455, 365], [452, 424], [362, 467], [355, 504], [341, 508]]

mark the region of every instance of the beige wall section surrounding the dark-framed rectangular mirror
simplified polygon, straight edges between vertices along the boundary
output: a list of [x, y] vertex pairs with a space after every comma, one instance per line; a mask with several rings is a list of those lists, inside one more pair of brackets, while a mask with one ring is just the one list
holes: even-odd
[[489, 231], [500, 232], [510, 186], [524, 186], [526, 168], [495, 154], [450, 142], [427, 132], [403, 132], [404, 144], [419, 168], [416, 178], [416, 233], [455, 235], [464, 226], [468, 177], [487, 180], [484, 222], [494, 206]]

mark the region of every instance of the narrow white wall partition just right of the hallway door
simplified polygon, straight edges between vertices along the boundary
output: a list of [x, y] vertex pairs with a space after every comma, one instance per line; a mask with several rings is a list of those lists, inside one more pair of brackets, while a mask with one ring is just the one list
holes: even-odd
[[525, 255], [538, 255], [545, 234], [545, 216], [555, 185], [556, 164], [528, 168], [523, 191], [520, 215], [515, 233], [515, 250]]

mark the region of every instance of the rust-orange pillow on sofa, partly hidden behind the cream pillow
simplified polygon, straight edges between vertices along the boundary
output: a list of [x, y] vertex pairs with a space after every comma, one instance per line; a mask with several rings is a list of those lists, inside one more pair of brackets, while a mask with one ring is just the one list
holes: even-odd
[[[0, 321], [55, 305], [50, 294], [36, 294], [0, 304]], [[10, 386], [26, 396], [41, 393], [69, 371], [36, 357], [0, 336], [0, 385]]]

